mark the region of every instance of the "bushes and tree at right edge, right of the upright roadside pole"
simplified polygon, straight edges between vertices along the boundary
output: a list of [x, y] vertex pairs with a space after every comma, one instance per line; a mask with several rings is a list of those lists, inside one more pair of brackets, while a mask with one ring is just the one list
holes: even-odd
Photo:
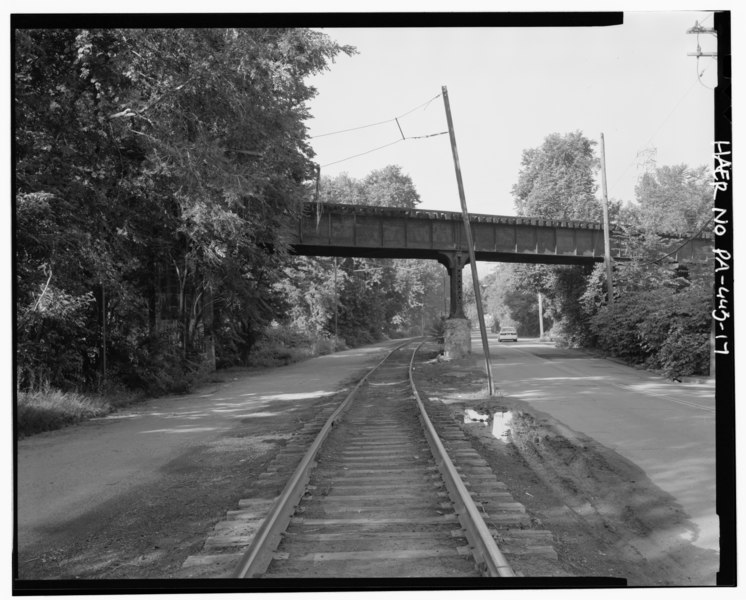
[[605, 299], [605, 272], [587, 279], [580, 308], [589, 324], [589, 345], [671, 378], [709, 370], [712, 264], [680, 265], [665, 258], [660, 234], [686, 239], [710, 220], [712, 191], [704, 167], [660, 167], [643, 175], [637, 202], [620, 212], [618, 226], [636, 231], [629, 244], [635, 260], [617, 263], [614, 303]]

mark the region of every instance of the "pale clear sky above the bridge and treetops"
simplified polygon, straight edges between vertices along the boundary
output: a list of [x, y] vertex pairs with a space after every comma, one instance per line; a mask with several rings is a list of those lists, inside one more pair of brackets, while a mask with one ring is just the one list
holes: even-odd
[[[324, 29], [358, 54], [309, 80], [315, 160], [324, 175], [359, 179], [399, 165], [421, 208], [460, 210], [448, 135], [402, 140], [447, 132], [446, 86], [469, 212], [515, 214], [523, 151], [574, 131], [599, 155], [604, 134], [609, 197], [633, 201], [644, 158], [712, 164], [717, 65], [687, 55], [695, 21], [712, 27], [712, 13], [625, 12], [621, 26], [590, 28]], [[716, 49], [711, 34], [699, 44]]]

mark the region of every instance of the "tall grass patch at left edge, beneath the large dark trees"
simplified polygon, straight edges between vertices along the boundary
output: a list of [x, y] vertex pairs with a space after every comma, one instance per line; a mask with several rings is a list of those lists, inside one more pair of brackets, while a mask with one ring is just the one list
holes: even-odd
[[61, 392], [54, 389], [18, 392], [17, 435], [21, 439], [43, 431], [62, 429], [94, 417], [103, 417], [141, 398], [139, 394], [127, 392], [106, 396]]

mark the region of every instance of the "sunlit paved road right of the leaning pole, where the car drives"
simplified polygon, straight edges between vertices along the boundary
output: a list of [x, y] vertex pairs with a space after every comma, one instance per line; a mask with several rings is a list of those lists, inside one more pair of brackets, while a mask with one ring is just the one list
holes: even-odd
[[[643, 469], [699, 528], [692, 543], [719, 549], [715, 513], [715, 387], [673, 383], [538, 340], [490, 336], [495, 385]], [[481, 338], [472, 351], [483, 357]]]

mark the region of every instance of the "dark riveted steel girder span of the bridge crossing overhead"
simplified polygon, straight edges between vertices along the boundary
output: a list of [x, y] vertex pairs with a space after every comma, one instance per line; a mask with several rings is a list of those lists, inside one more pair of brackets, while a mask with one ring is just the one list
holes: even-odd
[[[477, 260], [552, 264], [603, 261], [600, 223], [471, 214]], [[297, 254], [368, 258], [443, 259], [466, 253], [459, 212], [348, 204], [305, 203], [291, 243]], [[671, 240], [671, 250], [681, 240]], [[712, 245], [706, 234], [678, 250], [674, 260], [701, 258]], [[612, 256], [629, 259], [624, 236], [611, 235]]]

